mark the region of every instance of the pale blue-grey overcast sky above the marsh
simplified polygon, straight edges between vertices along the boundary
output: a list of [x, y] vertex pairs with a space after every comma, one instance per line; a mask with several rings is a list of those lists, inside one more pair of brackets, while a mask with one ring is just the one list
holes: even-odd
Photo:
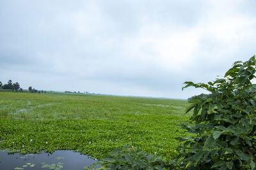
[[0, 0], [0, 81], [187, 99], [256, 54], [256, 1]]

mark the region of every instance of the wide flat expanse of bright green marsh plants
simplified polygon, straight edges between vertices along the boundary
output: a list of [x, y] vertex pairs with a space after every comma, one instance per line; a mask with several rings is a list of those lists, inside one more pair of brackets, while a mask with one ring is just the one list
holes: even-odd
[[82, 94], [0, 92], [0, 148], [75, 150], [100, 159], [130, 142], [170, 159], [184, 136], [187, 101]]

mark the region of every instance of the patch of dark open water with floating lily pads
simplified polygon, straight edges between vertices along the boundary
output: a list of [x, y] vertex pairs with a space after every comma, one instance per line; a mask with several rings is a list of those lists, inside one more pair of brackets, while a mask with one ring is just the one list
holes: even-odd
[[91, 166], [97, 160], [81, 155], [71, 150], [58, 150], [54, 153], [40, 153], [20, 155], [0, 151], [0, 170], [9, 169], [54, 169], [79, 170], [84, 166]]

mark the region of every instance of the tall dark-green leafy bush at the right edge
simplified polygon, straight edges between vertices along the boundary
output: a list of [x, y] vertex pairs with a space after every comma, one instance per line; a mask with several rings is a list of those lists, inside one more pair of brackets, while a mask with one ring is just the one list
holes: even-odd
[[[181, 169], [255, 169], [255, 56], [235, 62], [223, 78], [208, 83], [185, 82], [210, 94], [192, 97], [182, 129], [195, 134], [180, 138], [184, 145], [172, 160]], [[182, 89], [184, 89], [182, 88]]]

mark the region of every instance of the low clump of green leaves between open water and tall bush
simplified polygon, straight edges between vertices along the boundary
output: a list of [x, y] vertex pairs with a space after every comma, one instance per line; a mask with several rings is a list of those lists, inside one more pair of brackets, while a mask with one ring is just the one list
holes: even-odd
[[168, 163], [161, 157], [145, 153], [132, 146], [132, 143], [124, 148], [116, 148], [108, 157], [99, 160], [102, 169], [162, 169]]

